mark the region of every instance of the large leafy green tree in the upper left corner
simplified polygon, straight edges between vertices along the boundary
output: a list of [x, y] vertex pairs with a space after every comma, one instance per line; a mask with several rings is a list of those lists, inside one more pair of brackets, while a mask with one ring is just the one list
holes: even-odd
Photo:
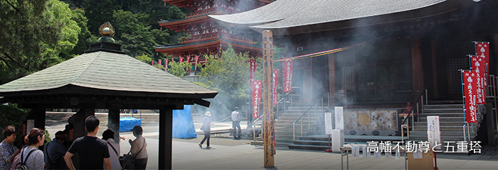
[[48, 54], [62, 36], [63, 22], [48, 9], [48, 0], [0, 1], [0, 84], [60, 61]]

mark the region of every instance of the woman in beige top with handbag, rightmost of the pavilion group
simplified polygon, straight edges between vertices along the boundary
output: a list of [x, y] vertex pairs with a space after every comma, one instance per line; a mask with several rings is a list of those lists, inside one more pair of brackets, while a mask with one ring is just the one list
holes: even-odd
[[132, 145], [130, 152], [134, 157], [134, 169], [145, 169], [147, 167], [147, 142], [145, 137], [142, 137], [142, 126], [136, 125], [133, 127], [133, 135], [137, 138], [129, 140], [129, 145]]

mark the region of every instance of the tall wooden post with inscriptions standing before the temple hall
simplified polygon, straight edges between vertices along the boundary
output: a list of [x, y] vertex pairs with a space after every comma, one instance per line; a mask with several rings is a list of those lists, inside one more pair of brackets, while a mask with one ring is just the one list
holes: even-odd
[[263, 31], [263, 145], [265, 168], [275, 166], [275, 119], [272, 105], [273, 33]]

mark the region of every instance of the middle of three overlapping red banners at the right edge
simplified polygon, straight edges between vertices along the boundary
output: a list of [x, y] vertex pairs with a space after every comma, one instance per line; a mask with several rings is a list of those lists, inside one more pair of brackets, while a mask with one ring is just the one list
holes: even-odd
[[474, 71], [477, 75], [477, 104], [486, 104], [486, 94], [484, 93], [484, 61], [481, 57], [477, 57], [475, 55], [470, 56], [470, 67], [472, 67], [472, 71]]

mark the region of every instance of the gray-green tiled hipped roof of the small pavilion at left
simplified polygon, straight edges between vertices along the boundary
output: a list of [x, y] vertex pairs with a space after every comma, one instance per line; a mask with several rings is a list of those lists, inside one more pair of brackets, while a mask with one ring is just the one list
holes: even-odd
[[0, 86], [0, 96], [73, 85], [110, 91], [159, 94], [213, 94], [212, 91], [149, 64], [115, 52], [90, 52]]

